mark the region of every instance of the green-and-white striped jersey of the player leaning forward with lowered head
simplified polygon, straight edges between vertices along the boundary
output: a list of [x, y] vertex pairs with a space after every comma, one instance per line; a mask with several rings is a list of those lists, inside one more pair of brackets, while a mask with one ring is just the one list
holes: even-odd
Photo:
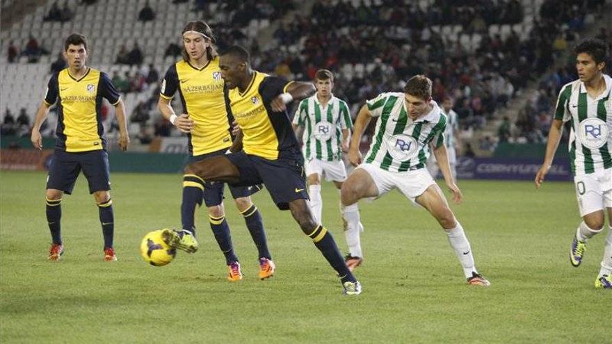
[[388, 92], [366, 102], [372, 117], [378, 117], [376, 131], [365, 163], [389, 172], [405, 172], [425, 167], [434, 147], [444, 145], [446, 115], [435, 101], [433, 110], [412, 121], [408, 117], [404, 94]]

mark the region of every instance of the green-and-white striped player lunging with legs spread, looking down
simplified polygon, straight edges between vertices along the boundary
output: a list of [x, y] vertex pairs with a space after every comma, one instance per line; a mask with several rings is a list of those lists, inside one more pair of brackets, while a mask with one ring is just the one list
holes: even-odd
[[[376, 129], [365, 158], [359, 151], [361, 137], [372, 117]], [[474, 266], [472, 248], [446, 198], [425, 168], [433, 150], [446, 186], [456, 203], [462, 200], [449, 167], [444, 145], [446, 115], [431, 99], [431, 80], [413, 76], [404, 92], [388, 92], [366, 102], [355, 120], [348, 160], [357, 168], [342, 185], [341, 202], [355, 204], [362, 198], [378, 198], [398, 189], [423, 206], [440, 223], [463, 268], [467, 283], [489, 286]]]

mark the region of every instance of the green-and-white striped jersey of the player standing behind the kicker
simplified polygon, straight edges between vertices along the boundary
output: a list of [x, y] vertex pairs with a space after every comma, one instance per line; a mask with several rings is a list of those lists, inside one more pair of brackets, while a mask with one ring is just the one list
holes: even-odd
[[353, 128], [346, 101], [332, 95], [327, 106], [323, 108], [315, 94], [300, 101], [293, 124], [304, 127], [302, 141], [304, 157], [307, 160], [342, 159], [342, 129]]

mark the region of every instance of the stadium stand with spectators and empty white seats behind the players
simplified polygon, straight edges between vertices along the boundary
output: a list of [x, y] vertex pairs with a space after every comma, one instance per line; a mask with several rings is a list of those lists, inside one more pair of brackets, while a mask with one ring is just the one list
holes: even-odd
[[[599, 19], [605, 0], [332, 0], [332, 1], [165, 1], [99, 0], [86, 5], [67, 1], [73, 17], [67, 22], [42, 20], [54, 1], [38, 1], [22, 19], [3, 30], [0, 58], [8, 60], [11, 42], [17, 47], [17, 63], [3, 63], [0, 97], [3, 111], [33, 115], [45, 92], [51, 63], [61, 51], [63, 38], [79, 31], [90, 38], [90, 65], [111, 77], [127, 79], [127, 114], [140, 103], [150, 111], [144, 125], [159, 121], [154, 101], [158, 77], [176, 59], [166, 54], [168, 45], [180, 47], [179, 32], [191, 19], [205, 18], [213, 27], [220, 49], [242, 44], [254, 56], [255, 66], [289, 79], [312, 79], [326, 67], [337, 75], [335, 90], [355, 110], [364, 99], [383, 90], [400, 90], [403, 79], [425, 73], [435, 84], [435, 99], [451, 95], [460, 115], [462, 136], [469, 140], [483, 126], [497, 125], [513, 97], [524, 95], [529, 83], [539, 81], [554, 61], [562, 58], [585, 26]], [[2, 1], [2, 8], [17, 1]], [[155, 19], [138, 21], [149, 3]], [[435, 10], [442, 8], [442, 10]], [[554, 10], [553, 10], [554, 9]], [[268, 40], [267, 38], [271, 39]], [[24, 54], [29, 38], [42, 49], [35, 58]], [[141, 65], [116, 64], [120, 49], [138, 44]], [[48, 54], [47, 54], [48, 53]], [[28, 63], [37, 60], [36, 63]], [[558, 68], [557, 68], [558, 69]], [[142, 76], [137, 76], [137, 74]], [[573, 78], [573, 70], [561, 68], [545, 78], [531, 108], [510, 114], [508, 140], [540, 142], [546, 134], [557, 80]], [[551, 79], [552, 78], [552, 79]], [[555, 81], [554, 83], [551, 83]], [[127, 90], [126, 90], [127, 91]], [[131, 92], [136, 91], [136, 92]], [[548, 104], [548, 106], [545, 106]], [[533, 108], [533, 109], [532, 109]], [[142, 108], [139, 108], [139, 111]], [[545, 115], [546, 113], [546, 115]], [[508, 115], [505, 113], [504, 115]], [[112, 128], [109, 119], [108, 129]], [[489, 122], [489, 124], [488, 124]], [[139, 133], [143, 123], [131, 125]], [[536, 129], [533, 129], [536, 128]], [[490, 140], [497, 142], [497, 126]], [[172, 134], [177, 134], [171, 131]], [[493, 143], [494, 143], [493, 142]], [[474, 145], [472, 145], [474, 146]]]

